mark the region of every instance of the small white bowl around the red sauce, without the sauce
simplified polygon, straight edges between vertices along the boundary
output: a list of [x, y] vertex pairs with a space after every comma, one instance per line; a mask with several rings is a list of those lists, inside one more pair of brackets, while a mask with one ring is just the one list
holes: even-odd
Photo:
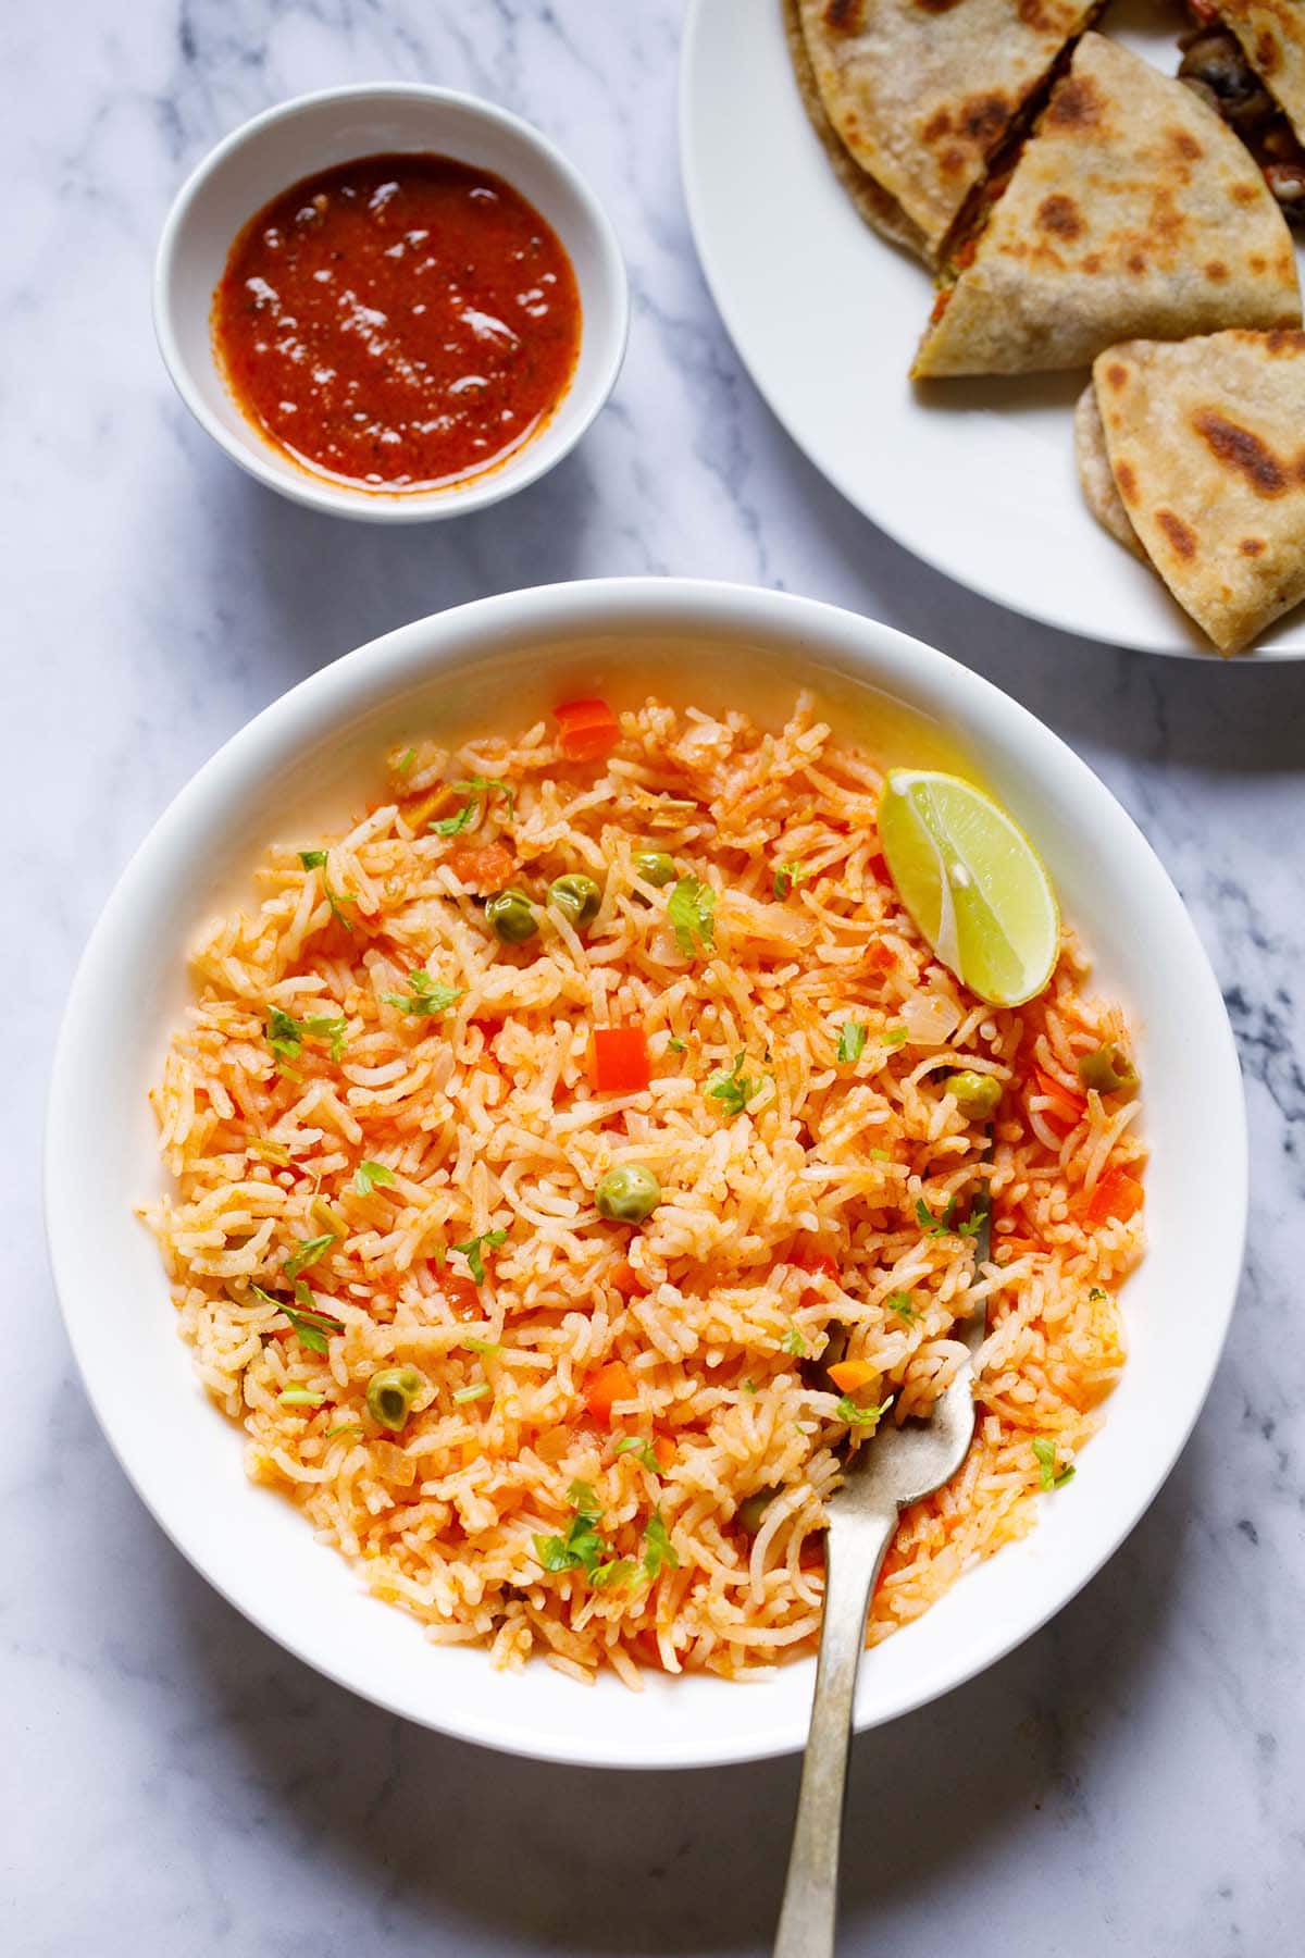
[[[243, 413], [213, 354], [213, 292], [237, 233], [254, 211], [299, 178], [385, 151], [456, 157], [503, 176], [554, 227], [579, 286], [579, 360], [550, 421], [503, 462], [442, 490], [352, 490], [299, 468]], [[155, 258], [158, 349], [200, 427], [268, 490], [309, 509], [372, 523], [462, 517], [544, 476], [575, 446], [612, 392], [628, 323], [620, 245], [583, 176], [518, 116], [417, 82], [323, 88], [254, 116], [182, 184]]]

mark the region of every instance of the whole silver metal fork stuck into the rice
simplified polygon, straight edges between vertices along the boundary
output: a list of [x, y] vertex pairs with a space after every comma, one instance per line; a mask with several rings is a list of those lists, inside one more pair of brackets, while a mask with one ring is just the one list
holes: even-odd
[[[972, 1216], [974, 1271], [992, 1247], [986, 1190]], [[788, 1852], [775, 1958], [833, 1958], [837, 1862], [851, 1752], [851, 1711], [865, 1649], [865, 1617], [875, 1578], [892, 1543], [900, 1512], [947, 1482], [974, 1435], [974, 1353], [986, 1314], [970, 1312], [959, 1337], [968, 1349], [927, 1422], [886, 1427], [847, 1465], [847, 1480], [830, 1498], [826, 1596], [816, 1662], [816, 1696], [806, 1737], [798, 1815]]]

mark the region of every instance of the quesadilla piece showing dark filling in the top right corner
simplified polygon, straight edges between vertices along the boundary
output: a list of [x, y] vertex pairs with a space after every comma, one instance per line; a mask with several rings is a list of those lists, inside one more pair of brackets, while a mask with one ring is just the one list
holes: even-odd
[[1178, 78], [1237, 129], [1293, 223], [1305, 225], [1305, 6], [1188, 0]]

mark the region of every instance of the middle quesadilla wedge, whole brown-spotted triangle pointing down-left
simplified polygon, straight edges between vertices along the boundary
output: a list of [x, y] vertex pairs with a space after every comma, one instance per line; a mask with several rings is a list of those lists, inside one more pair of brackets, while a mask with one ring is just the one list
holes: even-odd
[[1248, 151], [1100, 33], [961, 258], [916, 376], [1088, 366], [1121, 339], [1301, 323], [1291, 235]]

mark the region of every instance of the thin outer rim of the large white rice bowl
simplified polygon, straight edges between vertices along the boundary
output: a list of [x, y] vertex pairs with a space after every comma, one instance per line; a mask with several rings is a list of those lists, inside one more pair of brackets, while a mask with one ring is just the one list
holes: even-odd
[[[202, 813], [215, 795], [223, 795], [225, 775], [235, 775], [254, 756], [272, 756], [288, 738], [303, 740], [344, 724], [350, 713], [378, 705], [405, 683], [473, 662], [477, 650], [491, 646], [503, 634], [505, 627], [536, 632], [540, 638], [546, 634], [562, 638], [567, 632], [599, 638], [610, 636], [622, 627], [630, 629], [632, 621], [638, 629], [648, 630], [683, 627], [691, 632], [712, 632], [714, 629], [738, 632], [740, 627], [745, 627], [759, 638], [787, 638], [796, 658], [802, 658], [806, 650], [820, 652], [822, 646], [828, 650], [839, 634], [845, 634], [843, 644], [855, 638], [861, 640], [861, 652], [867, 658], [867, 677], [871, 677], [869, 668], [873, 668], [877, 683], [888, 687], [898, 681], [906, 699], [912, 699], [914, 683], [918, 697], [927, 697], [931, 687], [939, 687], [939, 683], [945, 685], [949, 701], [957, 703], [955, 711], [959, 719], [965, 721], [967, 728], [976, 732], [978, 740], [984, 738], [996, 717], [996, 724], [1004, 724], [1008, 738], [1012, 730], [1015, 740], [1021, 736], [1025, 740], [1033, 738], [1043, 746], [1047, 758], [1055, 758], [1057, 769], [1076, 775], [1080, 783], [1090, 783], [1088, 793], [1096, 797], [1107, 830], [1113, 830], [1115, 840], [1131, 832], [1133, 863], [1148, 863], [1148, 895], [1152, 899], [1162, 897], [1164, 910], [1168, 912], [1162, 920], [1164, 936], [1170, 938], [1174, 932], [1186, 936], [1182, 963], [1203, 993], [1207, 1032], [1213, 1028], [1223, 1030], [1219, 1051], [1205, 1053], [1205, 1067], [1211, 1095], [1219, 1102], [1221, 1189], [1225, 1194], [1219, 1232], [1217, 1235], [1207, 1235], [1203, 1247], [1207, 1259], [1205, 1273], [1209, 1277], [1205, 1302], [1211, 1306], [1211, 1316], [1201, 1335], [1203, 1353], [1199, 1375], [1190, 1388], [1190, 1406], [1182, 1408], [1182, 1418], [1168, 1429], [1164, 1447], [1137, 1465], [1127, 1498], [1115, 1504], [1111, 1521], [1098, 1533], [1092, 1551], [1072, 1568], [1068, 1580], [1060, 1584], [1055, 1596], [1039, 1600], [1033, 1611], [990, 1613], [984, 1635], [974, 1639], [961, 1655], [949, 1655], [947, 1666], [941, 1668], [945, 1676], [925, 1674], [912, 1680], [910, 1688], [900, 1692], [890, 1705], [867, 1709], [863, 1696], [859, 1696], [855, 1731], [898, 1719], [920, 1705], [943, 1698], [990, 1664], [996, 1664], [996, 1660], [1004, 1658], [1055, 1617], [1096, 1576], [1150, 1508], [1186, 1447], [1209, 1396], [1237, 1302], [1237, 1284], [1246, 1243], [1248, 1140], [1244, 1089], [1233, 1028], [1209, 957], [1182, 897], [1141, 828], [1105, 783], [1094, 775], [1088, 764], [1029, 709], [947, 654], [892, 627], [818, 599], [718, 580], [579, 580], [472, 599], [466, 605], [385, 632], [309, 674], [245, 723], [172, 797], [127, 862], [96, 920], [68, 991], [55, 1048], [45, 1124], [43, 1208], [59, 1308], [82, 1386], [100, 1429], [127, 1480], [164, 1535], [170, 1537], [182, 1557], [243, 1617], [335, 1684], [346, 1686], [374, 1705], [401, 1713], [405, 1719], [413, 1719], [438, 1733], [562, 1764], [597, 1768], [714, 1768], [800, 1748], [806, 1739], [804, 1717], [800, 1727], [792, 1719], [779, 1719], [769, 1729], [757, 1723], [757, 1729], [749, 1727], [745, 1739], [726, 1739], [704, 1729], [695, 1741], [671, 1747], [665, 1743], [657, 1745], [655, 1733], [650, 1733], [642, 1750], [622, 1745], [622, 1752], [616, 1754], [612, 1747], [605, 1747], [599, 1733], [585, 1731], [583, 1723], [577, 1723], [565, 1741], [558, 1741], [556, 1735], [544, 1737], [532, 1733], [528, 1721], [524, 1723], [524, 1731], [520, 1731], [520, 1709], [507, 1692], [493, 1719], [483, 1719], [475, 1713], [468, 1715], [452, 1696], [438, 1705], [413, 1705], [401, 1694], [387, 1692], [387, 1682], [383, 1678], [378, 1680], [374, 1672], [362, 1674], [356, 1668], [350, 1670], [348, 1664], [337, 1662], [319, 1651], [321, 1641], [315, 1643], [315, 1637], [299, 1621], [295, 1621], [293, 1629], [276, 1623], [270, 1604], [264, 1604], [258, 1596], [252, 1600], [241, 1596], [239, 1586], [223, 1582], [213, 1572], [205, 1553], [188, 1545], [184, 1529], [180, 1525], [174, 1527], [164, 1514], [166, 1467], [151, 1461], [147, 1472], [129, 1423], [119, 1423], [113, 1418], [106, 1406], [106, 1396], [100, 1392], [100, 1382], [88, 1359], [88, 1339], [82, 1337], [82, 1322], [90, 1324], [94, 1308], [82, 1300], [76, 1286], [76, 1200], [70, 1190], [61, 1189], [61, 1159], [67, 1153], [68, 1138], [76, 1132], [76, 1124], [84, 1122], [84, 1098], [80, 1083], [74, 1081], [74, 1063], [76, 1049], [92, 1044], [96, 1038], [92, 1030], [96, 1024], [100, 969], [112, 969], [113, 948], [119, 942], [119, 920], [129, 916], [131, 909], [149, 893], [157, 877], [157, 863], [162, 867], [172, 848], [172, 834], [194, 822], [192, 813]], [[479, 646], [477, 640], [481, 642]], [[923, 685], [920, 685], [922, 676]], [[1203, 1224], [1203, 1230], [1207, 1230], [1207, 1224]], [[984, 1568], [992, 1570], [998, 1564], [1000, 1559], [994, 1559]], [[720, 1692], [740, 1690], [728, 1682], [712, 1684], [718, 1684]]]

